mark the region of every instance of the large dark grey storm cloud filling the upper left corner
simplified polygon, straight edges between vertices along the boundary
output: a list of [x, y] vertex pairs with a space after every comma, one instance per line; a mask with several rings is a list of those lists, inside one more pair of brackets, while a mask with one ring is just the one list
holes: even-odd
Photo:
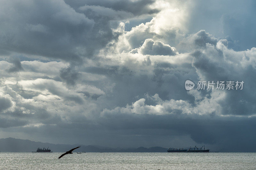
[[[62, 0], [2, 2], [0, 50], [64, 60], [92, 57], [95, 51], [98, 52], [97, 50], [118, 36], [111, 30], [118, 26], [118, 22], [110, 23], [113, 19], [111, 15], [116, 16], [116, 10], [120, 16], [116, 19], [131, 18], [134, 15], [152, 13], [147, 4], [153, 2], [84, 1], [83, 6], [87, 5], [86, 10], [81, 6], [81, 10], [74, 9], [72, 5], [69, 6]], [[74, 3], [76, 2], [70, 2]], [[89, 5], [102, 7], [92, 11], [95, 6]], [[100, 11], [101, 8], [103, 11]], [[105, 13], [105, 9], [109, 9], [109, 13]]]

